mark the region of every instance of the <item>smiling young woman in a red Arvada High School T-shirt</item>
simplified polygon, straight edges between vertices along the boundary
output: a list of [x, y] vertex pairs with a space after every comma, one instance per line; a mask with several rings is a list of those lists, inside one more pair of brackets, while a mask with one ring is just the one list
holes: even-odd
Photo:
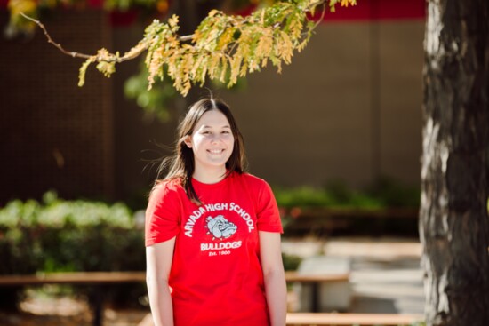
[[201, 99], [146, 211], [148, 296], [156, 326], [285, 326], [282, 226], [269, 185], [244, 172], [229, 107]]

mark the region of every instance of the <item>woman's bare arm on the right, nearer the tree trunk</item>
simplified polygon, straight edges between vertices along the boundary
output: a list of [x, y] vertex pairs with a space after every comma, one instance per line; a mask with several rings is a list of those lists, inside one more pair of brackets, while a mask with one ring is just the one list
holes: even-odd
[[271, 326], [285, 326], [287, 288], [280, 247], [280, 234], [259, 231], [260, 257]]

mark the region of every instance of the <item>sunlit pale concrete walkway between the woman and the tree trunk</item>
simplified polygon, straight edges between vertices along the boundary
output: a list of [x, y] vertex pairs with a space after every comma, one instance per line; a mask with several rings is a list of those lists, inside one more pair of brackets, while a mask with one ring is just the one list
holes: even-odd
[[351, 313], [423, 314], [421, 244], [402, 239], [284, 239], [282, 250], [302, 258], [351, 259]]

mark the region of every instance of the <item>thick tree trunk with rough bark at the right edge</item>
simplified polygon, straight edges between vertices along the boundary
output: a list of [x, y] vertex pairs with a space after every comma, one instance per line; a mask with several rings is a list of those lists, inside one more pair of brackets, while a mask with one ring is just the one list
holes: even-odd
[[489, 325], [489, 1], [429, 0], [421, 265], [428, 325]]

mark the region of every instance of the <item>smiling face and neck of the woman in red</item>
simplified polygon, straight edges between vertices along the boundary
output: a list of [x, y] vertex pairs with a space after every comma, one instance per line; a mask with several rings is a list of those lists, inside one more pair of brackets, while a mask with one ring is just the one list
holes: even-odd
[[226, 173], [235, 143], [226, 115], [217, 109], [205, 112], [185, 143], [194, 152], [196, 174]]

